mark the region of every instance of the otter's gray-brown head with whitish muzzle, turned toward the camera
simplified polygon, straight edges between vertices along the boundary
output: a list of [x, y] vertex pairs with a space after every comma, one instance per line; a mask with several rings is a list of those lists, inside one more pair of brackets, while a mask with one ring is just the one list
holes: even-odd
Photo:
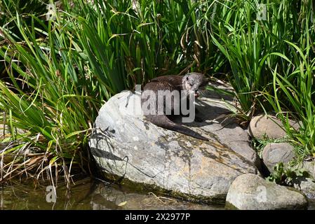
[[194, 94], [197, 98], [199, 97], [199, 90], [201, 87], [206, 86], [207, 82], [202, 73], [187, 73], [182, 78], [182, 87], [184, 90], [187, 90], [188, 94]]

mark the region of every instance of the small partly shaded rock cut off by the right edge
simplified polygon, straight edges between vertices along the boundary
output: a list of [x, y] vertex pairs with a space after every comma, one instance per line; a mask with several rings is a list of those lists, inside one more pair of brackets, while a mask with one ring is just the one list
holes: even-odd
[[310, 199], [315, 199], [315, 180], [308, 177], [297, 177], [291, 181], [293, 187], [302, 191]]

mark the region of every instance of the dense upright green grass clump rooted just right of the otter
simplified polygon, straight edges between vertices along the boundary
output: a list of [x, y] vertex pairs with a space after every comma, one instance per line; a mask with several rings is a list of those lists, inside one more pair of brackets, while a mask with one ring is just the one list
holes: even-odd
[[[257, 20], [258, 3], [266, 6], [264, 20]], [[292, 69], [278, 57], [294, 55], [286, 41], [303, 45], [314, 34], [309, 29], [311, 22], [314, 26], [309, 17], [314, 15], [314, 6], [311, 1], [220, 1], [216, 15], [211, 35], [229, 61], [227, 78], [241, 106], [240, 115], [249, 120], [262, 107], [272, 109], [261, 92], [272, 94], [275, 66], [281, 73]]]

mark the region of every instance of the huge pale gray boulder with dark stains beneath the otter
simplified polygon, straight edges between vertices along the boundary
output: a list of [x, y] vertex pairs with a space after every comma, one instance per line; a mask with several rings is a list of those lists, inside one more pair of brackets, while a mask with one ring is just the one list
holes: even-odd
[[[121, 92], [102, 106], [95, 120], [89, 145], [107, 177], [123, 177], [126, 183], [141, 183], [191, 200], [224, 202], [236, 176], [257, 173], [253, 162], [235, 153], [244, 150], [255, 157], [241, 127], [190, 124], [211, 139], [201, 141], [148, 123], [139, 114], [139, 103], [139, 94]], [[224, 109], [205, 100], [199, 111], [206, 120], [214, 120]]]

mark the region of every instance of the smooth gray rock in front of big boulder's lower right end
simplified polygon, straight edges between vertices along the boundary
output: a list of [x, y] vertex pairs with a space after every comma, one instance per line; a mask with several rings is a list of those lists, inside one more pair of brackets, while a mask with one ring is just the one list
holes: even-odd
[[279, 186], [255, 174], [243, 174], [232, 183], [226, 207], [242, 210], [306, 209], [307, 198], [294, 188]]

